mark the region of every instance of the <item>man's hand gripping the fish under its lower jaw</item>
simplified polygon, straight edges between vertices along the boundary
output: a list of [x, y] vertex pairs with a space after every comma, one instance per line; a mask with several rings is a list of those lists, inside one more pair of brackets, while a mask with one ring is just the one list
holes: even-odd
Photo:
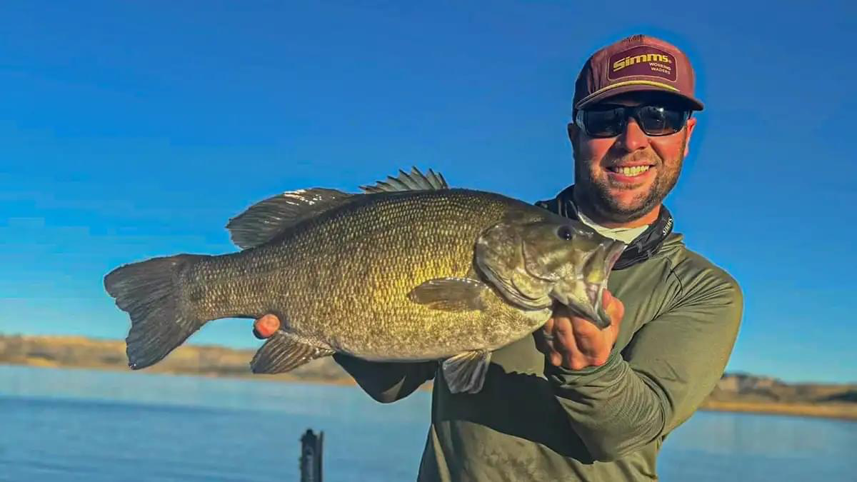
[[565, 306], [554, 310], [554, 316], [535, 333], [538, 350], [547, 355], [551, 364], [569, 370], [607, 363], [619, 336], [625, 306], [607, 290], [604, 290], [603, 304], [612, 321], [604, 329], [598, 329], [586, 318], [572, 316]]

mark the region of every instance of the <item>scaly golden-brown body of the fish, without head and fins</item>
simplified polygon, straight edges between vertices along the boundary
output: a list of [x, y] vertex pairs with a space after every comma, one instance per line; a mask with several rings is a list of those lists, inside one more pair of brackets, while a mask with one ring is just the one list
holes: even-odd
[[512, 207], [535, 211], [469, 190], [362, 196], [277, 243], [191, 266], [189, 308], [202, 319], [277, 313], [290, 332], [369, 359], [499, 346], [531, 321], [494, 291], [482, 312], [432, 310], [407, 294], [426, 280], [465, 277], [480, 232]]

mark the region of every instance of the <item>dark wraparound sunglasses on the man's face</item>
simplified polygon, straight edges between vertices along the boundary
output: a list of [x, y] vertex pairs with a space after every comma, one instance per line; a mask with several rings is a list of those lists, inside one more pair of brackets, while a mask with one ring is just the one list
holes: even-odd
[[685, 127], [691, 112], [659, 105], [617, 106], [578, 111], [574, 124], [590, 137], [615, 137], [625, 131], [630, 117], [637, 121], [646, 136], [669, 136]]

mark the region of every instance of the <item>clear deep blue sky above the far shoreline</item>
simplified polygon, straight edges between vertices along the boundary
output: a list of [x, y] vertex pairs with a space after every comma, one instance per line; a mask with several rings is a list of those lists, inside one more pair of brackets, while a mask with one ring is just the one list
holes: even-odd
[[[668, 206], [744, 289], [728, 370], [857, 382], [848, 3], [69, 5], [0, 5], [0, 333], [123, 338], [104, 274], [232, 251], [226, 220], [283, 190], [417, 165], [553, 196], [578, 69], [650, 33], [706, 103]], [[247, 320], [192, 341], [258, 345]]]

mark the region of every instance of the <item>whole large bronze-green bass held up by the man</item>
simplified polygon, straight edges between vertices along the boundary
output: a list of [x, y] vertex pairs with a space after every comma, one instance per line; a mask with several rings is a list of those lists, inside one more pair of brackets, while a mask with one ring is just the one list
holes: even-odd
[[219, 318], [283, 321], [250, 363], [289, 371], [334, 352], [443, 360], [453, 393], [482, 389], [491, 351], [547, 322], [554, 301], [599, 327], [625, 244], [506, 196], [400, 172], [363, 194], [315, 188], [230, 220], [243, 250], [135, 262], [105, 276], [129, 313], [129, 366], [164, 358]]

